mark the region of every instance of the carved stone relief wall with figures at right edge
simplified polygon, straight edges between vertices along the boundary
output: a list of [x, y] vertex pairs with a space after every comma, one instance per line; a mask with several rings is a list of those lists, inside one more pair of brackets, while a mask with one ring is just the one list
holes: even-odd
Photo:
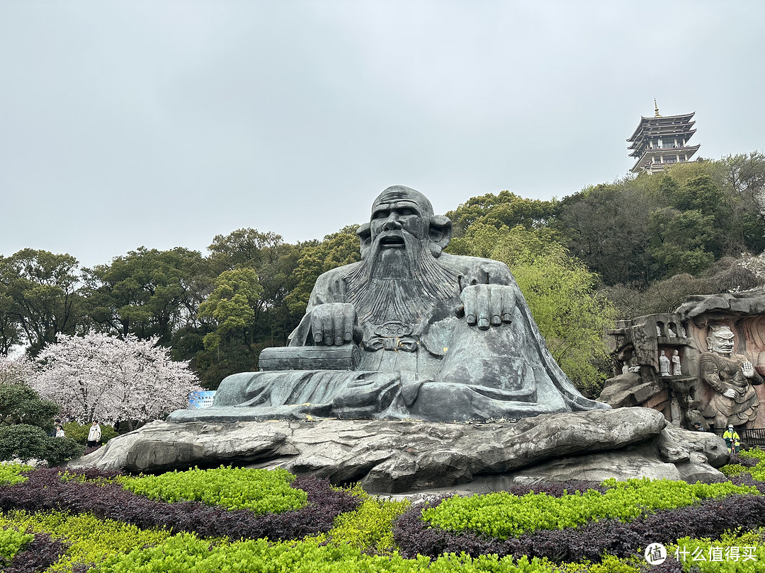
[[621, 374], [604, 402], [653, 408], [688, 429], [765, 428], [765, 291], [691, 296], [608, 335]]

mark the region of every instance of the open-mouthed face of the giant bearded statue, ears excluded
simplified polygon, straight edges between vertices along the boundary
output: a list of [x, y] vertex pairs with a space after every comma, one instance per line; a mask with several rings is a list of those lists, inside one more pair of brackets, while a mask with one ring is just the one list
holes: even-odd
[[406, 197], [388, 201], [382, 199], [375, 204], [369, 225], [372, 241], [379, 238], [381, 249], [404, 248], [404, 233], [409, 233], [420, 241], [428, 238], [430, 221], [421, 206]]

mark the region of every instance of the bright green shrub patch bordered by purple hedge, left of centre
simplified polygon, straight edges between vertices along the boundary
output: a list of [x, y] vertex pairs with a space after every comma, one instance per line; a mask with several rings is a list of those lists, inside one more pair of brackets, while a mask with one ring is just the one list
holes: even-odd
[[283, 469], [226, 468], [171, 471], [161, 475], [122, 476], [119, 482], [134, 494], [173, 503], [201, 501], [228, 510], [284, 513], [304, 507], [303, 490], [290, 487], [295, 476]]

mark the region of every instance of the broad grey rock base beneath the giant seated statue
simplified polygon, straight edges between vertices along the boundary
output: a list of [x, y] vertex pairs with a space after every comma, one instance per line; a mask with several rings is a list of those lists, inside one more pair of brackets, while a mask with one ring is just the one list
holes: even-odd
[[161, 472], [282, 467], [373, 494], [480, 493], [545, 480], [721, 481], [724, 441], [668, 425], [649, 408], [545, 414], [513, 423], [321, 419], [152, 422], [70, 467]]

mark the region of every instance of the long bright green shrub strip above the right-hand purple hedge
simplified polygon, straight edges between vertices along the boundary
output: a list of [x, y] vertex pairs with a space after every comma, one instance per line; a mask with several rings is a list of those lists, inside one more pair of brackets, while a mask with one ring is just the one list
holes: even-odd
[[604, 518], [634, 520], [644, 513], [692, 505], [708, 497], [759, 494], [755, 487], [686, 484], [683, 481], [607, 480], [604, 493], [588, 490], [553, 497], [545, 493], [516, 496], [507, 492], [451, 497], [422, 512], [422, 519], [455, 532], [472, 530], [498, 539], [537, 529], [576, 527]]

